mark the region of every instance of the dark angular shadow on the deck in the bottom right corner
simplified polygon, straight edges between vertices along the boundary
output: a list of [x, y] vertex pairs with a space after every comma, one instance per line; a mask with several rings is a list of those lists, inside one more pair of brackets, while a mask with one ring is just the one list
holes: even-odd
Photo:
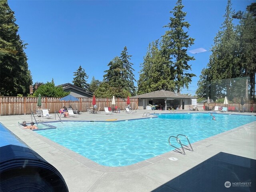
[[153, 192], [255, 192], [256, 160], [220, 152]]

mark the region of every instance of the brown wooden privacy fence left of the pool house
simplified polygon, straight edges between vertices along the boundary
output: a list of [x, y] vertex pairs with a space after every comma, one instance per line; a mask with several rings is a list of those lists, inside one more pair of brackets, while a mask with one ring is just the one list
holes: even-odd
[[[50, 109], [50, 113], [59, 111], [60, 108], [71, 106], [79, 112], [86, 112], [87, 108], [92, 107], [92, 98], [78, 98], [79, 101], [60, 101], [60, 98], [42, 97], [42, 106], [37, 106], [37, 97], [0, 97], [0, 116], [5, 115], [24, 115], [31, 114], [38, 109]], [[117, 107], [123, 110], [127, 106], [127, 98], [115, 98]], [[112, 106], [112, 98], [96, 98], [97, 108], [104, 111], [104, 107]], [[130, 98], [130, 107], [137, 108], [138, 98]]]

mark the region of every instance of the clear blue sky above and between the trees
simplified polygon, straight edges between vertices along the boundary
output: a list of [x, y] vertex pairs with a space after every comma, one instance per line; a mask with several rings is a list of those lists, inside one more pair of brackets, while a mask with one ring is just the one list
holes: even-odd
[[[232, 0], [232, 9], [246, 10], [254, 1]], [[86, 0], [8, 0], [14, 11], [19, 34], [24, 43], [33, 82], [55, 85], [72, 83], [81, 65], [89, 76], [102, 81], [107, 64], [120, 56], [124, 46], [132, 55], [134, 75], [139, 79], [140, 64], [148, 44], [162, 35], [176, 0], [165, 1], [86, 1]], [[212, 47], [213, 39], [224, 21], [227, 0], [183, 0], [188, 33], [195, 38], [188, 50]], [[210, 52], [191, 54], [192, 78], [189, 89], [195, 94], [201, 70]]]

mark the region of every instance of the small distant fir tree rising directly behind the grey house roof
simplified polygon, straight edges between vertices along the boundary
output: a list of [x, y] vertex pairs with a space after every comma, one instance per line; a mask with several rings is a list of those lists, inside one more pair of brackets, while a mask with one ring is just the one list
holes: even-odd
[[88, 90], [89, 84], [87, 83], [88, 75], [80, 65], [74, 73], [74, 80], [72, 81], [75, 86]]

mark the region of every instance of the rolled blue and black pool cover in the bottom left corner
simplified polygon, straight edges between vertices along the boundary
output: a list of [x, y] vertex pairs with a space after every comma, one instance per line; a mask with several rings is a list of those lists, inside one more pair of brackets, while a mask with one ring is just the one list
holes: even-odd
[[68, 192], [64, 178], [54, 166], [3, 126], [0, 130], [1, 192]]

